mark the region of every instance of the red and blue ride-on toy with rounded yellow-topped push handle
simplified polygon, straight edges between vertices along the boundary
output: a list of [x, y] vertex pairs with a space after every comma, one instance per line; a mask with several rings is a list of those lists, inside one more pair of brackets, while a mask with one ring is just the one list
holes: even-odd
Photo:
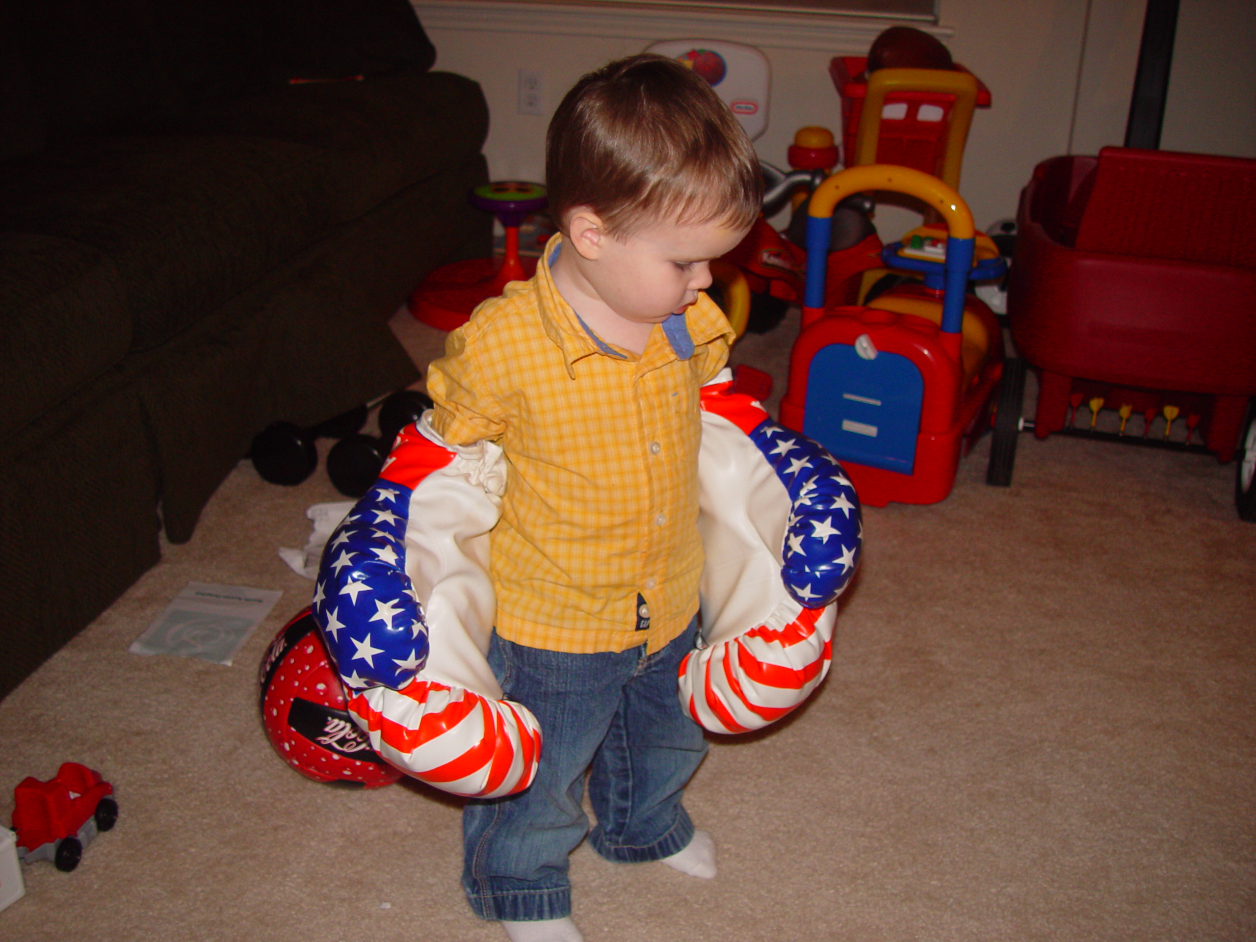
[[[937, 240], [945, 261], [922, 259], [923, 268], [913, 266], [926, 271], [923, 284], [893, 288], [870, 306], [825, 309], [829, 217], [844, 197], [870, 190], [907, 193], [936, 210], [948, 230]], [[934, 504], [951, 492], [961, 452], [988, 428], [1004, 373], [999, 322], [966, 295], [972, 214], [941, 180], [891, 165], [834, 173], [808, 212], [803, 330], [781, 423], [840, 458], [865, 504]]]

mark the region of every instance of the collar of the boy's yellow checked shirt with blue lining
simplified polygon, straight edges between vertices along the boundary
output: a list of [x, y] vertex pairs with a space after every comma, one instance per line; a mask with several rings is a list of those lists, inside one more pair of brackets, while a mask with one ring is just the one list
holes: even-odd
[[[566, 365], [568, 376], [575, 378], [575, 362], [584, 357], [604, 354], [619, 359], [627, 359], [623, 353], [610, 347], [602, 338], [593, 333], [580, 315], [559, 294], [554, 278], [550, 274], [550, 264], [558, 257], [563, 247], [563, 236], [555, 235], [545, 246], [541, 259], [536, 265], [535, 290], [539, 294], [538, 308], [546, 335], [563, 350], [563, 360]], [[727, 337], [731, 344], [736, 335], [728, 327], [723, 313], [705, 294], [698, 295], [698, 300], [691, 304], [683, 314], [672, 314], [659, 327], [667, 345], [663, 350], [657, 350], [658, 344], [651, 340], [642, 354], [643, 359], [669, 360], [690, 359], [698, 345], [710, 343], [718, 337]], [[669, 348], [671, 355], [667, 355]], [[662, 357], [659, 354], [663, 354]], [[642, 364], [646, 365], [644, 363]]]

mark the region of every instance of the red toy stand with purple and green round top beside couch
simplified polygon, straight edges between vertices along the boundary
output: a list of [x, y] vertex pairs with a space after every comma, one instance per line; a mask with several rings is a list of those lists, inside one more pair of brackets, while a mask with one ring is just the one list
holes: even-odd
[[504, 257], [468, 259], [435, 269], [409, 296], [409, 313], [428, 327], [453, 330], [471, 317], [482, 301], [496, 298], [510, 281], [524, 281], [536, 271], [536, 259], [519, 254], [519, 226], [533, 212], [545, 208], [545, 187], [539, 183], [504, 181], [471, 191], [472, 206], [492, 212], [506, 230]]

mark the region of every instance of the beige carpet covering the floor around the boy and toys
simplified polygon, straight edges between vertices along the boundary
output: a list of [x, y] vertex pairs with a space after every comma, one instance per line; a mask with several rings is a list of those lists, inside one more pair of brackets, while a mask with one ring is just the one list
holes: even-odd
[[[735, 354], [774, 402], [796, 330]], [[987, 453], [942, 504], [865, 511], [831, 676], [715, 742], [687, 798], [715, 880], [575, 853], [589, 942], [1256, 938], [1256, 526], [1233, 466], [1024, 435], [992, 489]], [[276, 549], [338, 499], [322, 468], [285, 489], [241, 463], [191, 543], [0, 702], [0, 815], [64, 760], [121, 805], [74, 873], [25, 868], [0, 938], [504, 938], [462, 899], [456, 801], [306, 781], [263, 735], [256, 664], [310, 592]], [[193, 580], [284, 598], [232, 667], [127, 653]]]

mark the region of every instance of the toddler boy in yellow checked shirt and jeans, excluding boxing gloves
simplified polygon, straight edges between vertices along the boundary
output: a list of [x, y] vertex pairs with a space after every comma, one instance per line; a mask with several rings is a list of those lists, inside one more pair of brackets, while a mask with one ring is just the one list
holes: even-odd
[[[728, 357], [702, 290], [759, 215], [750, 139], [703, 79], [638, 55], [585, 75], [549, 127], [554, 236], [535, 278], [453, 332], [432, 425], [507, 460], [489, 663], [544, 745], [517, 795], [463, 811], [463, 888], [514, 942], [578, 942], [568, 855], [715, 875], [682, 790], [706, 752], [677, 667], [697, 638], [698, 389]], [[582, 810], [585, 772], [597, 816]]]

